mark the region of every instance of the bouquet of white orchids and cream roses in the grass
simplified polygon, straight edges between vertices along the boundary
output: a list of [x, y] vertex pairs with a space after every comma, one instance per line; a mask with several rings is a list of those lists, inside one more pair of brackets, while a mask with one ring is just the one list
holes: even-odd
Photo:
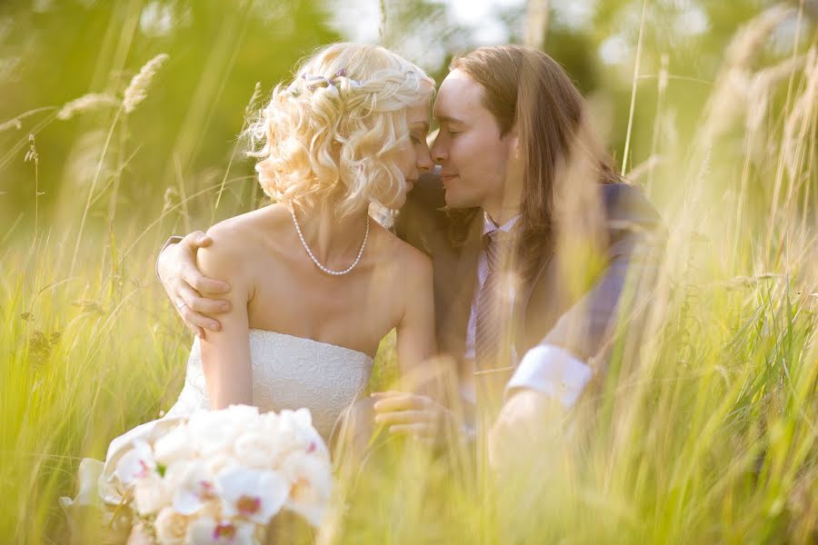
[[197, 411], [132, 447], [115, 476], [158, 543], [257, 543], [280, 510], [318, 526], [329, 503], [329, 453], [307, 409]]

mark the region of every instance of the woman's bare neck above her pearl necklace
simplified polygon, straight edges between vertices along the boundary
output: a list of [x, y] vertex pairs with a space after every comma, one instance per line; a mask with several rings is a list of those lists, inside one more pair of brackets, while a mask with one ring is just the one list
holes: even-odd
[[315, 258], [329, 268], [348, 266], [364, 242], [368, 210], [363, 208], [343, 218], [337, 216], [334, 206], [293, 210]]

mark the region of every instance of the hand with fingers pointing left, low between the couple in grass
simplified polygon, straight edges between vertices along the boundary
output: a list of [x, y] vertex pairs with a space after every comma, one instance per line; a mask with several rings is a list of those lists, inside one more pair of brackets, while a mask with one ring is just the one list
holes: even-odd
[[404, 391], [376, 391], [376, 424], [387, 427], [390, 433], [413, 435], [424, 442], [435, 443], [441, 438], [444, 426], [454, 423], [452, 411], [424, 395]]

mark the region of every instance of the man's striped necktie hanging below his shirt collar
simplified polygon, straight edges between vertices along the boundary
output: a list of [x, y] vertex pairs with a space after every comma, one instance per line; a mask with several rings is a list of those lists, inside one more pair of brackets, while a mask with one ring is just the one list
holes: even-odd
[[[474, 356], [478, 371], [504, 367], [504, 335], [509, 313], [509, 288], [503, 282], [504, 260], [511, 246], [509, 233], [497, 229], [483, 235], [487, 274], [477, 295], [477, 323], [474, 335]], [[504, 286], [505, 284], [505, 286]], [[505, 342], [507, 343], [507, 342]], [[507, 349], [507, 347], [505, 347]]]

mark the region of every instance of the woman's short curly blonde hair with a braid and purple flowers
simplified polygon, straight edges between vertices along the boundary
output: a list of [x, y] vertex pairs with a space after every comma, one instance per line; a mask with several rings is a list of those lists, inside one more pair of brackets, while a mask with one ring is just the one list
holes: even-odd
[[433, 95], [432, 78], [379, 45], [318, 50], [249, 124], [264, 193], [301, 208], [331, 199], [339, 217], [394, 208], [406, 191], [393, 159], [409, 138], [406, 109]]

